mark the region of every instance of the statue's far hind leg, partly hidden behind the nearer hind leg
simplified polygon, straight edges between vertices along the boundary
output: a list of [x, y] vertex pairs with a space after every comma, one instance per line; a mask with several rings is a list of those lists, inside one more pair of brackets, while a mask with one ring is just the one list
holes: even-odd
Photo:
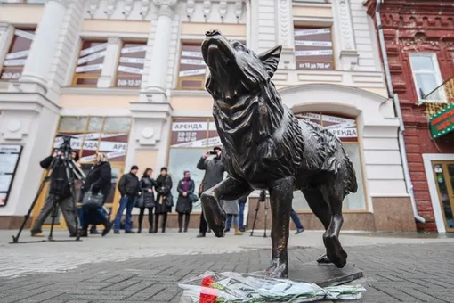
[[[325, 231], [328, 230], [329, 224], [331, 223], [331, 209], [329, 208], [328, 202], [323, 199], [318, 189], [304, 190], [302, 192], [315, 217], [319, 218], [321, 224], [325, 227]], [[317, 262], [331, 263], [331, 260], [327, 257], [327, 254], [323, 254], [317, 259]]]

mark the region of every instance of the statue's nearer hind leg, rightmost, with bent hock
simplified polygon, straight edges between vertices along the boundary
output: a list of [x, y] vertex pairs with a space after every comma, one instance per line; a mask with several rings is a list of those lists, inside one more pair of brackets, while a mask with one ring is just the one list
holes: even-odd
[[[338, 184], [338, 183], [337, 183]], [[339, 233], [344, 223], [342, 217], [342, 201], [344, 193], [342, 186], [335, 184], [324, 184], [322, 189], [323, 199], [328, 202], [331, 209], [331, 221], [328, 229], [323, 233], [323, 242], [327, 249], [327, 257], [339, 268], [347, 263], [347, 253], [339, 241]]]

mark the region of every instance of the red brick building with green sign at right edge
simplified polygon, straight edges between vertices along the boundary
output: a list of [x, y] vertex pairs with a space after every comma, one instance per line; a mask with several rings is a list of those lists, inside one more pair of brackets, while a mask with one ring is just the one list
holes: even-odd
[[386, 0], [366, 5], [383, 25], [390, 80], [405, 126], [414, 199], [422, 217], [418, 230], [454, 232], [454, 136], [450, 133], [454, 2]]

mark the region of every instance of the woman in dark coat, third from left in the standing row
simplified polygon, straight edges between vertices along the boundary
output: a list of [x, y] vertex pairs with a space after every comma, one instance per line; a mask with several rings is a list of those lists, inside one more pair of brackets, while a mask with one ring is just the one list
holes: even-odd
[[158, 232], [159, 215], [162, 215], [162, 232], [166, 233], [167, 224], [167, 213], [172, 212], [174, 206], [174, 197], [172, 197], [172, 177], [167, 173], [167, 168], [161, 168], [161, 173], [156, 179], [158, 187], [156, 192], [158, 196], [156, 198], [156, 209], [155, 209], [155, 233]]

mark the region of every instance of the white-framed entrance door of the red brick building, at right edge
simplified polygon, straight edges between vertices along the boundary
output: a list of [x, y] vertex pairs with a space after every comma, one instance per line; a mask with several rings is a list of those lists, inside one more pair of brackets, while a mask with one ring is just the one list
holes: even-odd
[[454, 161], [432, 161], [446, 231], [454, 233]]

